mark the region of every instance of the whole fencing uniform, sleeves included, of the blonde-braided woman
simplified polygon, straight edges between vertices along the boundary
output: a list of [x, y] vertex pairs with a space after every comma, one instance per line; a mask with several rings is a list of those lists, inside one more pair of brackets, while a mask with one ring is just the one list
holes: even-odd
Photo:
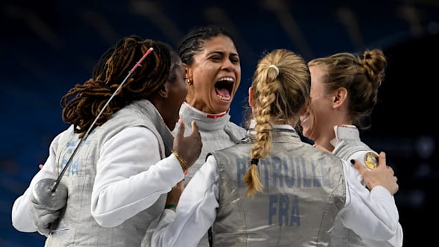
[[387, 189], [369, 192], [346, 161], [303, 143], [291, 126], [273, 127], [258, 165], [261, 193], [247, 198], [242, 181], [252, 144], [213, 152], [176, 212], [165, 209], [152, 246], [197, 246], [211, 225], [213, 246], [327, 246], [336, 215], [364, 237], [393, 237], [398, 215]]

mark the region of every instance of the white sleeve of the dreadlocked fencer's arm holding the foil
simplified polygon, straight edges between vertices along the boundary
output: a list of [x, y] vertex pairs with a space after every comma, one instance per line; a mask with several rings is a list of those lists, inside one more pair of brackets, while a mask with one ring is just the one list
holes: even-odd
[[[12, 205], [12, 226], [16, 228], [17, 231], [22, 231], [25, 233], [32, 233], [36, 231], [36, 227], [32, 222], [32, 216], [30, 215], [30, 207], [32, 199], [32, 191], [34, 186], [38, 181], [44, 178], [51, 178], [54, 181], [58, 178], [56, 172], [56, 149], [58, 147], [58, 139], [60, 135], [51, 142], [49, 146], [49, 157], [42, 169], [40, 169], [37, 174], [35, 174], [34, 178], [32, 178], [29, 187], [25, 190], [23, 195], [16, 198], [14, 204]], [[37, 167], [37, 164], [35, 164]]]

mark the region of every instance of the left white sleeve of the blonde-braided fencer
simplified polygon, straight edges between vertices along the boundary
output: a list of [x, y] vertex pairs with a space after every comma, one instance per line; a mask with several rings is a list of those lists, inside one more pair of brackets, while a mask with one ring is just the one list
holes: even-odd
[[185, 187], [176, 212], [163, 212], [151, 246], [197, 246], [215, 221], [218, 194], [219, 176], [211, 155]]

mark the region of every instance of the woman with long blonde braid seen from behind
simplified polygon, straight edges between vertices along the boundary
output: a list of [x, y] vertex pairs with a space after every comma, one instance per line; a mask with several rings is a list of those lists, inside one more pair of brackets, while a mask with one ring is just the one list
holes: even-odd
[[152, 246], [196, 246], [213, 226], [213, 246], [327, 246], [337, 215], [348, 228], [390, 239], [398, 224], [396, 178], [384, 153], [361, 171], [300, 141], [293, 126], [309, 102], [305, 60], [286, 49], [261, 58], [249, 89], [248, 138], [208, 156], [182, 192], [176, 211], [165, 209]]

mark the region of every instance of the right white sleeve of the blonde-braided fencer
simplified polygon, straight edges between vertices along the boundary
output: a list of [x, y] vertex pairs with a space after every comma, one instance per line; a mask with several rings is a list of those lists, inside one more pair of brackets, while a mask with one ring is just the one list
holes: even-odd
[[382, 186], [372, 191], [359, 183], [355, 168], [344, 161], [346, 205], [340, 216], [344, 226], [364, 239], [385, 241], [397, 234], [399, 213], [393, 196]]

